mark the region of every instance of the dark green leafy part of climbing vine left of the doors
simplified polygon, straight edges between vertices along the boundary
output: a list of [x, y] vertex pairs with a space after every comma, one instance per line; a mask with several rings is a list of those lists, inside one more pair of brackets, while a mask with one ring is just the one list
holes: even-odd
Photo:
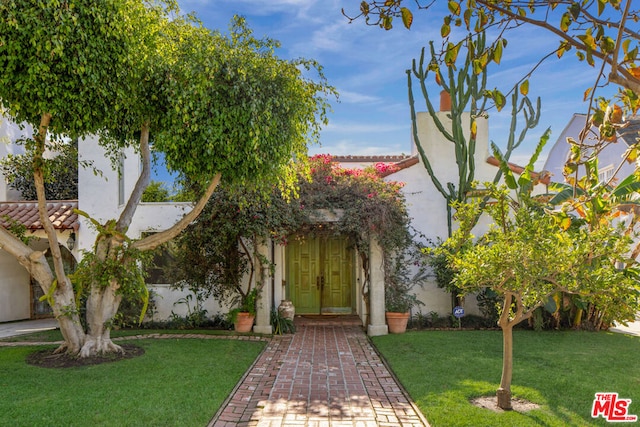
[[[177, 239], [171, 250], [169, 277], [178, 288], [202, 292], [231, 306], [248, 306], [253, 278], [271, 268], [257, 254], [257, 244], [267, 238], [283, 241], [299, 226], [299, 215], [274, 191], [267, 198], [258, 189], [221, 186], [213, 194], [200, 217]], [[243, 278], [249, 276], [249, 285]]]

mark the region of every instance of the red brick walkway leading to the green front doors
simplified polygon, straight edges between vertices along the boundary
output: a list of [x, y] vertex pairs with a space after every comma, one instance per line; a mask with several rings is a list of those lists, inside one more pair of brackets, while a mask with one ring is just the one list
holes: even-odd
[[296, 326], [268, 344], [210, 427], [428, 426], [360, 326]]

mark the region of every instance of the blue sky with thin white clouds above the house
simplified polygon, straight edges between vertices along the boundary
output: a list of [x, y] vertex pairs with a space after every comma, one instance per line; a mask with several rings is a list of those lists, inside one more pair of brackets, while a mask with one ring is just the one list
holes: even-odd
[[[429, 15], [418, 12], [411, 30], [398, 21], [393, 30], [384, 31], [362, 20], [349, 24], [342, 15], [342, 8], [355, 14], [360, 0], [179, 0], [179, 4], [183, 12], [194, 11], [205, 26], [221, 31], [227, 29], [234, 14], [243, 15], [256, 37], [268, 36], [282, 43], [280, 57], [315, 59], [324, 67], [340, 100], [332, 102], [329, 125], [322, 131], [321, 145], [310, 147], [312, 154], [411, 152], [405, 70], [430, 40], [439, 43], [442, 11]], [[491, 68], [488, 84], [488, 88], [498, 87], [503, 92], [558, 45], [555, 37], [535, 28], [521, 28], [508, 39], [503, 60]], [[540, 124], [512, 161], [526, 163], [540, 135], [551, 127], [548, 151], [572, 114], [586, 112], [583, 93], [595, 81], [596, 73], [572, 54], [561, 60], [554, 57], [538, 68], [530, 79], [530, 97], [542, 99]], [[438, 105], [439, 88], [434, 83], [429, 90]], [[417, 94], [416, 102], [419, 111], [426, 109], [420, 107], [424, 101]], [[509, 113], [510, 108], [490, 112], [489, 139], [500, 147], [508, 135]]]

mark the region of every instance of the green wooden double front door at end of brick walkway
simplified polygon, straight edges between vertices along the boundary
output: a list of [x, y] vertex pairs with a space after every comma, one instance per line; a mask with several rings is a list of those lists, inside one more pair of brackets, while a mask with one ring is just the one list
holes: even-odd
[[296, 313], [352, 312], [353, 251], [344, 238], [292, 239], [286, 280]]

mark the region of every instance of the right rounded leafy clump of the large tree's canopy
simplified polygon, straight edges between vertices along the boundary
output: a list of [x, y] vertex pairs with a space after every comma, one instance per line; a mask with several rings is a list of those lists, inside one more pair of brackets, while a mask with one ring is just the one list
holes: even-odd
[[[222, 173], [227, 183], [291, 185], [291, 159], [306, 158], [326, 122], [333, 88], [321, 67], [279, 59], [278, 43], [254, 38], [242, 18], [228, 37], [191, 31], [172, 52], [181, 66], [167, 82], [167, 131], [154, 134], [155, 149], [191, 181]], [[319, 82], [301, 70], [317, 71]]]

